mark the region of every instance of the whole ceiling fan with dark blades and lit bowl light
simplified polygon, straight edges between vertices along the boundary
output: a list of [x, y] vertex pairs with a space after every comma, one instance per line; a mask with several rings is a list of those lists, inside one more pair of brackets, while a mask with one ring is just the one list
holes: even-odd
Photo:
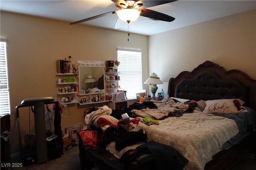
[[151, 18], [153, 20], [171, 22], [175, 20], [175, 18], [173, 18], [172, 16], [168, 16], [166, 14], [162, 14], [160, 12], [156, 12], [146, 8], [158, 6], [161, 4], [167, 4], [174, 1], [176, 0], [112, 0], [112, 2], [116, 3], [116, 8], [118, 10], [106, 12], [104, 14], [100, 14], [90, 18], [72, 22], [70, 23], [70, 25], [82, 23], [89, 20], [94, 20], [96, 18], [100, 18], [109, 14], [116, 14], [116, 13], [121, 20], [127, 21], [128, 23], [130, 23], [130, 21], [136, 20], [139, 16], [144, 16], [147, 18]]

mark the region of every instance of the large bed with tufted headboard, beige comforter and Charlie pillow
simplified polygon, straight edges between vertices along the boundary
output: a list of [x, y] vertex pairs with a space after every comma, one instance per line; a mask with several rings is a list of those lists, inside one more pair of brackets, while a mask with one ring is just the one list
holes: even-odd
[[[186, 111], [194, 101], [197, 105], [192, 111]], [[198, 105], [199, 102], [205, 103], [204, 108]], [[229, 114], [234, 109], [230, 108], [229, 102], [235, 104], [236, 114]], [[166, 110], [173, 109], [169, 108], [170, 103], [178, 109], [168, 116]], [[218, 64], [206, 61], [192, 72], [184, 71], [176, 78], [170, 78], [168, 97], [154, 104], [157, 109], [147, 107], [131, 112], [142, 118], [146, 113], [158, 119], [159, 125], [139, 122], [138, 126], [145, 129], [147, 142], [171, 146], [186, 157], [188, 162], [184, 170], [227, 170], [244, 155], [255, 154], [256, 80], [240, 70], [226, 71]], [[159, 114], [154, 114], [156, 112]], [[90, 161], [85, 163], [85, 160]], [[152, 169], [152, 160], [150, 154], [145, 154], [130, 167]], [[85, 149], [81, 143], [80, 162], [82, 169], [96, 162], [100, 169], [124, 169], [120, 160], [109, 152], [100, 154]]]

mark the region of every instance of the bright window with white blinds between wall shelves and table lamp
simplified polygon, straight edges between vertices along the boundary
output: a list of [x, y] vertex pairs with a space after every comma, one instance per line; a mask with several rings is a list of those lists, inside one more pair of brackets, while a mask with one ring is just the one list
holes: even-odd
[[141, 51], [117, 49], [119, 85], [126, 90], [127, 99], [136, 99], [136, 93], [142, 91]]

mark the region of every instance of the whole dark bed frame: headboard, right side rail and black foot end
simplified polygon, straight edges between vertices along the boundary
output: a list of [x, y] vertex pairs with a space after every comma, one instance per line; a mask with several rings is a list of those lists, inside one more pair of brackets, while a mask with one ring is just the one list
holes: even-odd
[[[189, 100], [215, 100], [240, 98], [245, 106], [256, 110], [256, 80], [240, 70], [226, 71], [218, 64], [206, 61], [194, 68], [192, 72], [181, 72], [176, 78], [170, 78], [168, 85], [170, 97]], [[248, 133], [240, 143], [229, 149], [221, 150], [204, 167], [205, 170], [228, 170], [239, 162], [244, 155], [255, 152], [256, 133]], [[88, 150], [79, 144], [81, 169], [91, 168], [95, 162], [100, 170], [124, 169], [120, 161], [108, 151], [102, 154]], [[127, 169], [152, 169], [152, 156], [140, 156]], [[91, 165], [91, 166], [88, 166]], [[149, 165], [149, 166], [145, 166]], [[154, 169], [154, 168], [153, 168]]]

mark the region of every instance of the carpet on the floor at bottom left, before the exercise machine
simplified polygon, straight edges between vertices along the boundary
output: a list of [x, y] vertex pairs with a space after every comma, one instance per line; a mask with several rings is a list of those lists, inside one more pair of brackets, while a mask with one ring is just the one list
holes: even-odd
[[[64, 154], [60, 158], [49, 160], [41, 164], [32, 164], [22, 168], [9, 168], [10, 170], [80, 170], [78, 146], [70, 150], [63, 149]], [[20, 163], [19, 158], [12, 158], [12, 162]]]

